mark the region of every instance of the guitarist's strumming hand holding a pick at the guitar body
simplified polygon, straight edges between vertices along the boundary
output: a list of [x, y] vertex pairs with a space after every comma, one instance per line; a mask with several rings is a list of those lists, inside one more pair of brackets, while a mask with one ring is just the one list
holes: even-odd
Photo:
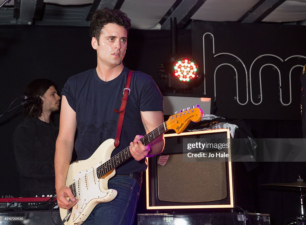
[[69, 209], [73, 207], [79, 200], [75, 199], [71, 190], [67, 186], [56, 189], [56, 198], [60, 208]]

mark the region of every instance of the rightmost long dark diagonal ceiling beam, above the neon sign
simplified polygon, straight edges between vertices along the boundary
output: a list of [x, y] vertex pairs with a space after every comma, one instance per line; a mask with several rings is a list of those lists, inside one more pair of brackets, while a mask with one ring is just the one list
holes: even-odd
[[286, 0], [260, 0], [247, 13], [245, 13], [238, 22], [258, 23], [266, 18]]

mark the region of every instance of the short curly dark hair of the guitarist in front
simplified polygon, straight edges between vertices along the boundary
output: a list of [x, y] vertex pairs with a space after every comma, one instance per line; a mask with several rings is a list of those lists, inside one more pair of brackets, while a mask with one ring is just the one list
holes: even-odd
[[91, 17], [89, 26], [89, 34], [91, 38], [95, 37], [99, 44], [99, 37], [101, 30], [106, 24], [113, 23], [118, 26], [124, 27], [128, 32], [131, 27], [131, 20], [128, 18], [126, 13], [118, 9], [98, 9]]

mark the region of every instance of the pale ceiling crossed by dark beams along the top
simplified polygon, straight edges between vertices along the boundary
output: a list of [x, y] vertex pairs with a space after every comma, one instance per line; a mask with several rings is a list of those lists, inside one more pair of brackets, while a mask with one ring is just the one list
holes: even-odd
[[[127, 13], [136, 29], [170, 29], [170, 17], [177, 18], [178, 28], [188, 28], [191, 20], [300, 25], [306, 20], [306, 0], [21, 0], [20, 6], [12, 0], [0, 9], [0, 24], [86, 26], [88, 14], [106, 6]], [[41, 18], [33, 20], [34, 13]]]

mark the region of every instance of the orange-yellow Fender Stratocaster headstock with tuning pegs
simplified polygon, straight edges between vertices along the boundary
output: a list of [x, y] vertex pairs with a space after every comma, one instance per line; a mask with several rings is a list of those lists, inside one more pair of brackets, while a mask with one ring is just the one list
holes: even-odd
[[190, 121], [199, 122], [203, 117], [203, 111], [196, 107], [188, 107], [187, 109], [175, 112], [174, 115], [170, 116], [166, 121], [167, 129], [173, 129], [176, 133], [181, 133], [188, 126]]

